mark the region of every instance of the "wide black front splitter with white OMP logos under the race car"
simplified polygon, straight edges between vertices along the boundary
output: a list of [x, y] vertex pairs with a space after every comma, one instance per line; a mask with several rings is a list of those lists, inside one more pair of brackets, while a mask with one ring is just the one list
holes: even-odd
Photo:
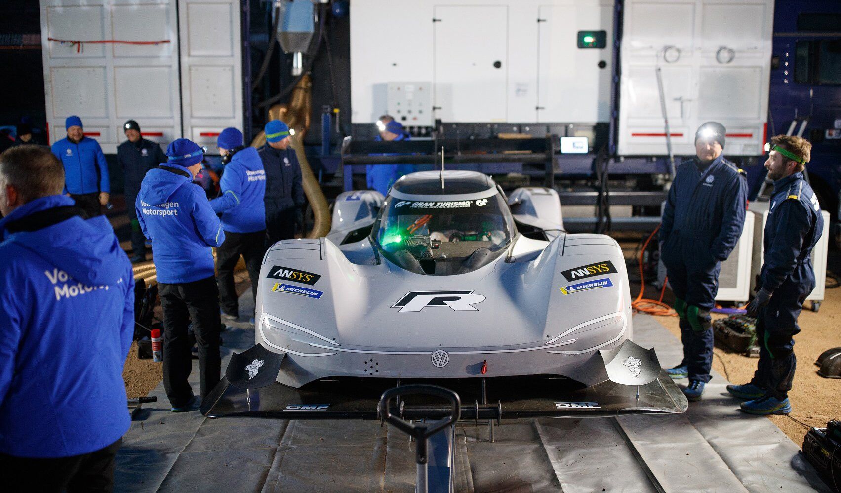
[[[583, 389], [552, 376], [485, 379], [405, 379], [401, 384], [435, 384], [461, 398], [463, 421], [537, 417], [582, 418], [643, 413], [680, 414], [689, 402], [664, 371], [640, 386], [606, 381]], [[378, 419], [383, 390], [394, 379], [328, 379], [295, 389], [275, 382], [257, 390], [241, 390], [227, 379], [202, 403], [210, 418], [255, 416], [274, 419]], [[449, 415], [449, 406], [434, 398], [411, 395], [394, 407], [405, 419], [436, 419]]]

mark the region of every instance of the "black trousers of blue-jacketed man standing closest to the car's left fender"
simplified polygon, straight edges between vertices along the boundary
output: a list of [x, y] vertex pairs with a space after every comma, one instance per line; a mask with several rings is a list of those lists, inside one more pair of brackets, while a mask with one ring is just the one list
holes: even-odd
[[[266, 231], [255, 233], [230, 233], [225, 231], [225, 242], [216, 249], [216, 280], [219, 283], [219, 298], [222, 310], [229, 315], [239, 313], [234, 284], [234, 268], [240, 256], [246, 259], [248, 277], [251, 278], [251, 294], [257, 302], [257, 281], [260, 278], [260, 264], [266, 253]], [[254, 315], [253, 313], [251, 315]]]

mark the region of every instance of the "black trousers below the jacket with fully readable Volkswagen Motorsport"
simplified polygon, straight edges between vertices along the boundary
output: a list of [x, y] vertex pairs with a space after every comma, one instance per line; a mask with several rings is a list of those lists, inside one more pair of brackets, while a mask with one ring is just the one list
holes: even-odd
[[202, 397], [219, 384], [219, 292], [213, 277], [192, 283], [158, 283], [163, 310], [163, 384], [172, 407], [186, 406], [193, 397], [187, 381], [193, 370], [193, 346], [187, 326], [192, 322], [198, 346], [198, 379]]

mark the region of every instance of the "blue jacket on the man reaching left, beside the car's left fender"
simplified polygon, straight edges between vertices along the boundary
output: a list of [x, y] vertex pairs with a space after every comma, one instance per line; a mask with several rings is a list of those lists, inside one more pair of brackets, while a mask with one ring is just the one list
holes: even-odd
[[210, 201], [214, 212], [222, 213], [222, 229], [232, 233], [254, 233], [266, 229], [266, 172], [254, 147], [237, 152], [225, 165], [220, 180], [222, 195]]

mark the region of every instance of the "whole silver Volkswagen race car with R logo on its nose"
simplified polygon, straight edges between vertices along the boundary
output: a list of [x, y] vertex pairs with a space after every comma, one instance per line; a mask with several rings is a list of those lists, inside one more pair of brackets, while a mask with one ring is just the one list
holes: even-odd
[[[232, 358], [203, 412], [285, 417], [304, 406], [373, 418], [377, 400], [369, 406], [363, 389], [415, 379], [481, 381], [475, 400], [498, 402], [497, 419], [509, 401], [517, 416], [566, 405], [685, 411], [653, 350], [630, 342], [631, 310], [621, 248], [563, 231], [553, 189], [506, 198], [479, 172], [415, 172], [385, 198], [341, 193], [327, 237], [269, 249], [257, 344]], [[492, 379], [505, 385], [486, 388]], [[569, 399], [562, 384], [575, 389]], [[638, 388], [628, 401], [632, 388], [617, 390], [627, 385], [644, 385], [648, 401]]]

